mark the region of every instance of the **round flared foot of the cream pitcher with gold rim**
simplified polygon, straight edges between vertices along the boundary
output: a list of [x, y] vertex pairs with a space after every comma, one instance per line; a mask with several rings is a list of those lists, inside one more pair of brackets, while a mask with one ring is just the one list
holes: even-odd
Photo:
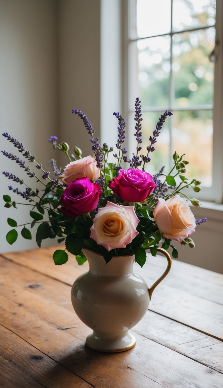
[[112, 340], [99, 337], [94, 332], [87, 336], [86, 345], [93, 350], [103, 353], [120, 353], [132, 349], [136, 345], [136, 337], [127, 333], [125, 336]]

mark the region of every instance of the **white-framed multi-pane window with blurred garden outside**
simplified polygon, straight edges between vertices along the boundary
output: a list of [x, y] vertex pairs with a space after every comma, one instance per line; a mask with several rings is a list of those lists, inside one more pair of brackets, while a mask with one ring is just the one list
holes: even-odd
[[135, 149], [132, 136], [135, 97], [139, 96], [142, 103], [144, 154], [146, 140], [160, 114], [169, 109], [173, 116], [163, 126], [148, 171], [155, 173], [165, 165], [167, 173], [172, 154], [186, 153], [188, 178], [202, 181], [199, 197], [221, 203], [223, 2], [129, 0], [127, 3], [125, 90], [129, 98], [125, 109], [129, 150]]

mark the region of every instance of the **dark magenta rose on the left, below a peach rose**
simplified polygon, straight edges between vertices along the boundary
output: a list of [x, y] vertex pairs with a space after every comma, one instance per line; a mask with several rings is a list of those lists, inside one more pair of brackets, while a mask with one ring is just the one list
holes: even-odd
[[68, 217], [77, 217], [94, 210], [102, 194], [99, 183], [91, 183], [89, 178], [77, 178], [69, 183], [63, 192], [61, 211]]

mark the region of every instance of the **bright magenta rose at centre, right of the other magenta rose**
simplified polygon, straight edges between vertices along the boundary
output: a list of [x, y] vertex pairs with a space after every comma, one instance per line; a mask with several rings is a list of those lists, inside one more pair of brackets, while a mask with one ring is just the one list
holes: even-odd
[[153, 177], [148, 172], [137, 168], [120, 170], [118, 178], [109, 182], [113, 193], [127, 202], [142, 202], [156, 187]]

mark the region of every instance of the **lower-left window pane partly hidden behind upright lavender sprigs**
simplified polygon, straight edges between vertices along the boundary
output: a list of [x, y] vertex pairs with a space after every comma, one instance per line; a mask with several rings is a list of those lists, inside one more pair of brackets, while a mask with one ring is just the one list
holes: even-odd
[[[156, 124], [163, 112], [142, 112], [142, 150], [140, 154], [147, 155], [146, 147], [150, 145], [149, 137], [153, 136], [153, 131], [156, 128]], [[135, 121], [134, 114], [130, 114], [129, 117], [129, 126], [130, 126], [130, 152], [134, 152], [136, 155], [136, 146], [137, 141], [134, 137], [133, 133], [136, 131], [134, 129]], [[161, 133], [157, 138], [157, 142], [154, 144], [155, 151], [149, 153], [149, 157], [151, 161], [146, 163], [146, 171], [148, 171], [151, 175], [154, 175], [156, 172], [160, 170], [161, 167], [165, 166], [166, 171], [169, 170], [169, 147], [170, 147], [170, 118], [168, 117], [163, 125]], [[128, 152], [128, 156], [132, 157], [132, 155]]]

